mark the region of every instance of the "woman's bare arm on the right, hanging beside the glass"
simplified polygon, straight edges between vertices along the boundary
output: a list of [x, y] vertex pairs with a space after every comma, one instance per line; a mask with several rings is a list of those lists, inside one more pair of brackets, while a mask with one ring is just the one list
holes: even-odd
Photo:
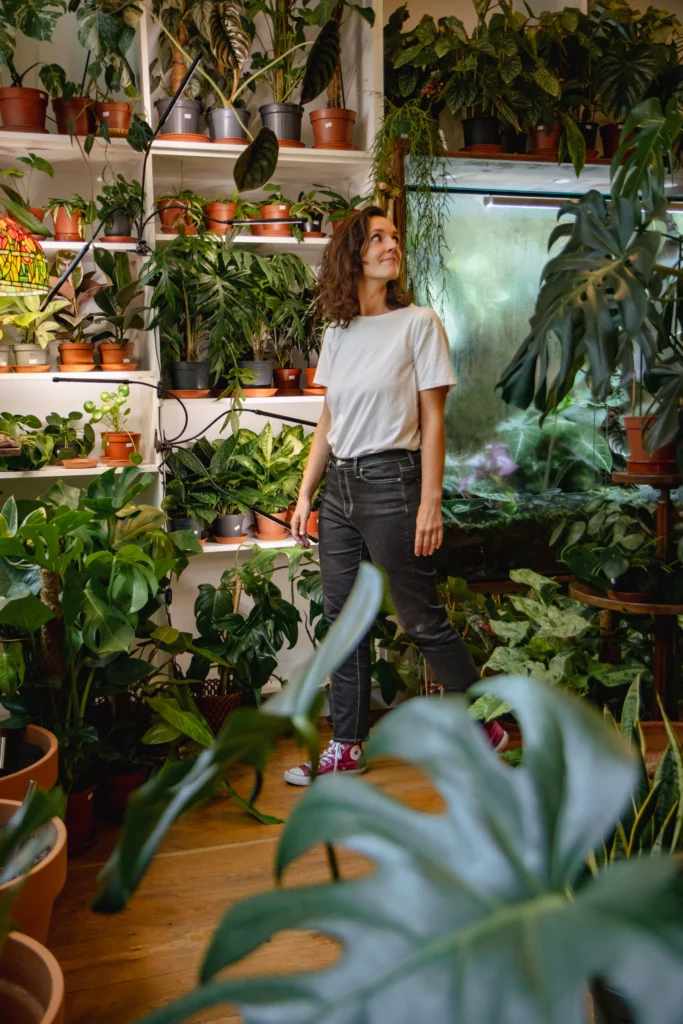
[[422, 434], [422, 494], [415, 527], [416, 555], [431, 555], [441, 547], [441, 495], [445, 462], [443, 415], [447, 387], [420, 391], [420, 432]]

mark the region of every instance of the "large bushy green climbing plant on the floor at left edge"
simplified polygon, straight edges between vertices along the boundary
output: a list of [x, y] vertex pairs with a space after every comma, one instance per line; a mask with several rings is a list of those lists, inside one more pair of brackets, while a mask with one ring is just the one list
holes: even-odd
[[59, 740], [66, 787], [84, 783], [97, 753], [95, 701], [126, 694], [156, 671], [137, 638], [165, 589], [200, 546], [168, 534], [165, 514], [136, 499], [152, 474], [109, 470], [86, 492], [59, 480], [24, 519], [2, 510], [0, 609], [5, 728], [30, 722]]

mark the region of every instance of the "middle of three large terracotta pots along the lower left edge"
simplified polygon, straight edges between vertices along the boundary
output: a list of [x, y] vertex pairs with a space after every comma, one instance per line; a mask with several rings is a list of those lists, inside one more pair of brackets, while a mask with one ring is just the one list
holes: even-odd
[[[18, 800], [0, 800], [0, 826], [6, 825], [22, 806]], [[37, 942], [47, 941], [52, 904], [67, 881], [67, 829], [52, 818], [45, 826], [49, 853], [28, 874], [12, 905], [12, 922]], [[0, 886], [0, 899], [16, 880]]]

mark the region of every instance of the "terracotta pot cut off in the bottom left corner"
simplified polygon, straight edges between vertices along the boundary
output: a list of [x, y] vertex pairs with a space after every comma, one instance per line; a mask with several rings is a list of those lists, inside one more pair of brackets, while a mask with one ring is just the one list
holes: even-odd
[[40, 942], [11, 932], [0, 957], [0, 1020], [6, 1024], [63, 1024], [65, 979]]

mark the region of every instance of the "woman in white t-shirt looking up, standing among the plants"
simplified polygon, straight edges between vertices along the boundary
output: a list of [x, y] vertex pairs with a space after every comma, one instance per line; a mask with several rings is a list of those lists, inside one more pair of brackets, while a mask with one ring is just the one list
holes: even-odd
[[[432, 555], [441, 544], [443, 413], [456, 383], [449, 342], [432, 309], [411, 303], [397, 284], [401, 254], [394, 225], [378, 207], [345, 219], [323, 260], [321, 314], [331, 324], [315, 383], [327, 387], [299, 501], [295, 540], [307, 545], [311, 499], [324, 474], [319, 519], [325, 616], [341, 611], [362, 559], [384, 567], [400, 625], [445, 690], [465, 690], [478, 673], [436, 593]], [[364, 641], [334, 674], [334, 739], [318, 771], [366, 770], [371, 659]], [[496, 750], [505, 730], [489, 723]], [[285, 773], [308, 785], [310, 764]]]

